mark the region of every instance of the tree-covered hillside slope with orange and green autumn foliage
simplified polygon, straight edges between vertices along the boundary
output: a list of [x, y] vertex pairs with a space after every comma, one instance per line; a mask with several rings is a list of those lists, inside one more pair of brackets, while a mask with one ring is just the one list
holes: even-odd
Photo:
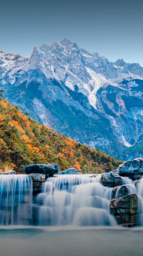
[[24, 165], [49, 163], [59, 164], [61, 171], [75, 167], [82, 173], [102, 173], [121, 161], [38, 124], [0, 100], [0, 169], [21, 173]]

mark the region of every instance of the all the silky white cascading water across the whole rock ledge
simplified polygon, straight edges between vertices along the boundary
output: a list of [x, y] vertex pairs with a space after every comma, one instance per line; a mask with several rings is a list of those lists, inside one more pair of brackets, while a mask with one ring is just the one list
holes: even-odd
[[[137, 193], [143, 225], [143, 179], [136, 187], [122, 177], [115, 198]], [[43, 183], [42, 193], [32, 204], [32, 180], [28, 175], [0, 176], [0, 225], [110, 225], [113, 188], [101, 184], [101, 175], [57, 175]]]

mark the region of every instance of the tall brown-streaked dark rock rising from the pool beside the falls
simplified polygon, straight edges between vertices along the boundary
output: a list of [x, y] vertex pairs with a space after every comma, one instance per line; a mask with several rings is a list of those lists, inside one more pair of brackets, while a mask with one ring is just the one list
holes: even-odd
[[129, 194], [124, 197], [111, 200], [110, 212], [114, 215], [118, 224], [125, 226], [138, 225], [138, 195]]

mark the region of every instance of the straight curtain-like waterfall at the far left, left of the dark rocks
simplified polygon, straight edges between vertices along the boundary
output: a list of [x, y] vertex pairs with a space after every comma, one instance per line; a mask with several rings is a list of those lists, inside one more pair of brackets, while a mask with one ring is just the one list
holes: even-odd
[[0, 224], [29, 225], [31, 222], [32, 181], [30, 176], [0, 176]]

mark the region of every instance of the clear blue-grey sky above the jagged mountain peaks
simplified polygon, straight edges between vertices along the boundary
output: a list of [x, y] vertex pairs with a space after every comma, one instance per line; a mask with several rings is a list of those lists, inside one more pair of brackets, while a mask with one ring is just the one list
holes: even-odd
[[67, 38], [110, 61], [143, 67], [143, 0], [1, 0], [0, 47], [30, 55]]

